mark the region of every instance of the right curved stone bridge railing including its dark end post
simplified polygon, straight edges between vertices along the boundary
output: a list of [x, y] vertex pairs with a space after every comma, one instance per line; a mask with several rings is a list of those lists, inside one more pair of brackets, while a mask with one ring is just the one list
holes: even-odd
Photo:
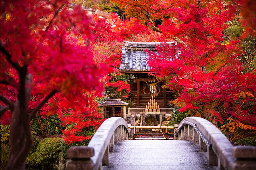
[[187, 117], [174, 130], [174, 138], [199, 144], [207, 152], [208, 165], [219, 169], [255, 169], [255, 147], [233, 146], [211, 122], [201, 117]]

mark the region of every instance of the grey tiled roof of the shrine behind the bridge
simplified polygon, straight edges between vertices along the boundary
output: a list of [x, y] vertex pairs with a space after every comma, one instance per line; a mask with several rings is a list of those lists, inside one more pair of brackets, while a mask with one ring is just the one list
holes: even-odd
[[[166, 42], [166, 44], [174, 45], [176, 42]], [[145, 49], [149, 51], [156, 51], [156, 45], [161, 45], [162, 42], [130, 42], [124, 41], [122, 46], [122, 58], [120, 70], [122, 71], [149, 71], [147, 59], [148, 54]]]

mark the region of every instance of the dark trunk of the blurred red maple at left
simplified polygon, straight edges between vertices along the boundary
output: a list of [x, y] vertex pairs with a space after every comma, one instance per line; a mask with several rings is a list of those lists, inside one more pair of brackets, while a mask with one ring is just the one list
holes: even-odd
[[19, 72], [20, 89], [14, 103], [10, 124], [11, 151], [6, 169], [25, 169], [26, 157], [33, 146], [27, 107], [30, 99], [32, 75], [26, 68]]

